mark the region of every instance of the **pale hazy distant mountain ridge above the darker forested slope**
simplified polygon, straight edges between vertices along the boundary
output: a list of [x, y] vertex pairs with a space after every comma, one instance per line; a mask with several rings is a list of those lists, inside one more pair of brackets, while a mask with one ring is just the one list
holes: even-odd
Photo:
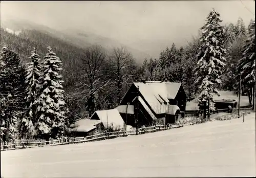
[[89, 32], [84, 32], [78, 29], [66, 29], [57, 31], [49, 27], [31, 23], [25, 20], [15, 20], [15, 19], [1, 19], [1, 28], [10, 29], [12, 31], [22, 31], [22, 30], [37, 30], [41, 33], [46, 33], [51, 37], [59, 38], [68, 43], [72, 43], [77, 47], [85, 48], [92, 46], [93, 44], [99, 44], [108, 52], [112, 52], [113, 48], [125, 47], [135, 58], [136, 62], [142, 63], [144, 58], [149, 58], [150, 55], [141, 52], [137, 49], [127, 47], [124, 44], [110, 39], [108, 37], [103, 37]]

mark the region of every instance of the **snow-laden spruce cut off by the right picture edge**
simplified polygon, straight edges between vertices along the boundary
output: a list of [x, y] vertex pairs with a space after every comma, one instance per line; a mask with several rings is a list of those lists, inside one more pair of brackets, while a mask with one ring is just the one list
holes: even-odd
[[[238, 71], [241, 72], [241, 82], [248, 89], [252, 99], [252, 88], [255, 84], [255, 20], [250, 22], [248, 38], [243, 48], [243, 57], [239, 60]], [[250, 103], [251, 103], [250, 99]]]

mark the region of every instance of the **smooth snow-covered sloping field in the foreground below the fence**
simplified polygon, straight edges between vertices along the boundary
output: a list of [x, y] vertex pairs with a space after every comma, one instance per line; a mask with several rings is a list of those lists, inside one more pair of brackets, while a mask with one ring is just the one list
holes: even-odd
[[255, 113], [91, 143], [1, 152], [2, 177], [255, 176]]

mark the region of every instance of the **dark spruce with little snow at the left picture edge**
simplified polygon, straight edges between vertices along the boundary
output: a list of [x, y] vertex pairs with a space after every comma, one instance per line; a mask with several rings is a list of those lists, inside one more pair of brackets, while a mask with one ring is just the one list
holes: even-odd
[[1, 64], [1, 140], [9, 142], [17, 131], [21, 65], [18, 55], [7, 47], [1, 51]]

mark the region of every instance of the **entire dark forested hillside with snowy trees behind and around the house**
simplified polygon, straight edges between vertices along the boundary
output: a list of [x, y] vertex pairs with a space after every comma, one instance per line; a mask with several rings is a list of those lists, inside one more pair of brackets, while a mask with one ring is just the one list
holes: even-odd
[[[210, 98], [212, 111], [212, 92], [237, 91], [241, 73], [242, 90], [255, 103], [255, 21], [245, 27], [240, 18], [236, 25], [223, 27], [215, 10], [206, 21], [202, 33], [186, 46], [173, 43], [158, 59], [145, 56], [142, 65], [120, 46], [107, 51], [102, 46], [81, 47], [43, 30], [15, 34], [1, 28], [1, 131], [9, 132], [11, 125], [14, 133], [18, 124], [19, 133], [32, 136], [37, 130], [34, 136], [39, 138], [59, 137], [75, 120], [116, 107], [130, 85], [142, 79], [182, 82], [188, 101]], [[24, 125], [30, 125], [30, 131]], [[9, 136], [8, 132], [3, 134]]]

